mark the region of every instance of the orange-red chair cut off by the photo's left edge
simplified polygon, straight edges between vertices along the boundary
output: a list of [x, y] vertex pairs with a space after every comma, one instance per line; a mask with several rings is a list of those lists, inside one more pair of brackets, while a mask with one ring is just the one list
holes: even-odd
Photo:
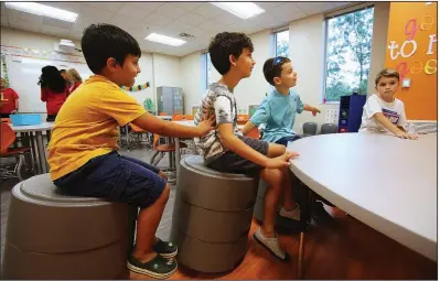
[[[31, 148], [14, 148], [10, 149], [9, 147], [15, 141], [15, 133], [12, 128], [7, 122], [1, 122], [1, 147], [0, 147], [0, 158], [15, 158], [17, 164], [14, 166], [13, 173], [17, 174], [17, 177], [23, 181], [21, 176], [21, 167], [24, 162], [24, 153], [30, 153]], [[6, 169], [4, 169], [6, 170]], [[4, 175], [7, 177], [10, 176], [10, 172], [6, 171]]]

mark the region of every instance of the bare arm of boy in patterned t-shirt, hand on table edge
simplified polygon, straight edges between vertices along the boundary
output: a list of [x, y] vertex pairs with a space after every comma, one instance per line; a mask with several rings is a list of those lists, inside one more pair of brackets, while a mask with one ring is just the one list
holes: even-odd
[[218, 132], [221, 136], [221, 140], [223, 145], [225, 145], [228, 150], [234, 153], [240, 155], [244, 159], [249, 160], [260, 166], [266, 166], [270, 169], [289, 166], [289, 159], [292, 156], [298, 156], [299, 154], [296, 152], [286, 152], [283, 155], [278, 158], [268, 158], [262, 155], [258, 151], [254, 150], [240, 139], [238, 139], [234, 134], [234, 129], [232, 123], [221, 123], [218, 126]]

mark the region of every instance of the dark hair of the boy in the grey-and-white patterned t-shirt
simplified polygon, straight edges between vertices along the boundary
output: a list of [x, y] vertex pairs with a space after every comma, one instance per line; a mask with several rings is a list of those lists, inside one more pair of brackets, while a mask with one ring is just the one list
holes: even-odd
[[253, 42], [245, 33], [222, 32], [215, 35], [210, 43], [210, 57], [215, 69], [225, 75], [230, 68], [229, 55], [238, 58], [243, 48], [254, 52]]

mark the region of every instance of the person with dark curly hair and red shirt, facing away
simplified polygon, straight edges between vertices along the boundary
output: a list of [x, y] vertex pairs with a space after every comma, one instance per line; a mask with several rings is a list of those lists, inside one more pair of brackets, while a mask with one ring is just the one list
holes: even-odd
[[41, 86], [41, 100], [46, 102], [46, 121], [53, 122], [71, 91], [67, 82], [55, 66], [44, 66], [41, 72], [42, 74], [39, 80], [39, 85]]

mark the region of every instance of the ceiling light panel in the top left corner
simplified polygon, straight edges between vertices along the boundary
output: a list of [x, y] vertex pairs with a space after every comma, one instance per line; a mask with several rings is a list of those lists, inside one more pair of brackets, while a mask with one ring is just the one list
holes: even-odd
[[57, 19], [61, 21], [75, 22], [78, 18], [77, 13], [35, 2], [6, 2], [6, 6], [9, 9]]

